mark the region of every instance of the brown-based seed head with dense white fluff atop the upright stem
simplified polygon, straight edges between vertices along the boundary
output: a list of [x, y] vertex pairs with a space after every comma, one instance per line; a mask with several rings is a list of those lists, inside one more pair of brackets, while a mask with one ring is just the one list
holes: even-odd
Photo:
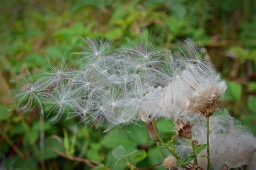
[[174, 82], [176, 88], [187, 97], [187, 111], [210, 116], [220, 105], [226, 90], [226, 83], [220, 79], [209, 61], [200, 59], [200, 53], [191, 40], [187, 40], [189, 56], [179, 59], [181, 72]]

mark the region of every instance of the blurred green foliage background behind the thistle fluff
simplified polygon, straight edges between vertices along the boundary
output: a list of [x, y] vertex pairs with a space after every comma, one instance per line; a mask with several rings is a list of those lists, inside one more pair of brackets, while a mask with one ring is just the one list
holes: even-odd
[[[171, 1], [0, 1], [0, 169], [90, 169], [74, 157], [114, 166], [113, 148], [147, 153], [138, 167], [158, 164], [163, 157], [145, 126], [125, 126], [112, 132], [85, 129], [76, 118], [51, 124], [35, 108], [15, 111], [9, 90], [25, 72], [46, 69], [45, 56], [60, 61], [77, 58], [81, 37], [109, 38], [114, 47], [125, 37], [138, 39], [148, 30], [157, 47], [177, 49], [187, 37], [196, 41], [206, 58], [228, 83], [224, 107], [256, 132], [256, 2], [254, 0]], [[46, 114], [47, 115], [47, 114]], [[158, 121], [165, 139], [174, 133], [171, 121]], [[57, 153], [58, 152], [58, 153]], [[61, 152], [61, 153], [60, 153]], [[62, 154], [62, 155], [60, 155]], [[156, 169], [161, 169], [161, 166]]]

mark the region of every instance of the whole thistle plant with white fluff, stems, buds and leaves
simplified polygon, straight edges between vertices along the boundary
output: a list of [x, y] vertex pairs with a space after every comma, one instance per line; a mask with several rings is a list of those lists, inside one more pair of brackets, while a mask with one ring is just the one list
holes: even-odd
[[[35, 82], [28, 73], [17, 91], [18, 110], [38, 106], [53, 122], [79, 117], [85, 127], [106, 125], [105, 131], [143, 121], [169, 152], [167, 169], [255, 168], [256, 138], [221, 109], [226, 83], [190, 39], [185, 52], [155, 48], [146, 34], [112, 51], [104, 39], [83, 40], [78, 61], [47, 59], [51, 71]], [[156, 125], [160, 118], [177, 126], [167, 142]]]

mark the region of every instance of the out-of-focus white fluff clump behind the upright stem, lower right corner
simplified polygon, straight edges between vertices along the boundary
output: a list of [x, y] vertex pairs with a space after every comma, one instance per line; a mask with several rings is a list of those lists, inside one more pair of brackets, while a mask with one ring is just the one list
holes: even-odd
[[[193, 126], [193, 139], [199, 144], [206, 143], [206, 123], [201, 117]], [[246, 128], [241, 126], [233, 117], [224, 111], [222, 115], [210, 119], [210, 158], [214, 169], [228, 163], [229, 168], [239, 168], [247, 165], [252, 152], [256, 148], [256, 138]], [[200, 153], [206, 155], [206, 150]], [[207, 159], [198, 156], [198, 165], [206, 168]]]

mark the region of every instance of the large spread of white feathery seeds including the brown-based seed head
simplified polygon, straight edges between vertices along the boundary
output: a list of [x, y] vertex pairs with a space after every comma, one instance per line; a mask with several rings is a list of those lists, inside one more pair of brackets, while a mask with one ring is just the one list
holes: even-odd
[[84, 41], [76, 65], [47, 60], [50, 72], [36, 82], [29, 79], [17, 96], [18, 108], [28, 112], [37, 103], [42, 112], [55, 115], [52, 121], [66, 114], [80, 117], [86, 126], [106, 123], [109, 130], [140, 119], [176, 121], [219, 107], [226, 84], [191, 40], [186, 41], [188, 54], [177, 56], [154, 48], [146, 33], [114, 51], [104, 39]]

